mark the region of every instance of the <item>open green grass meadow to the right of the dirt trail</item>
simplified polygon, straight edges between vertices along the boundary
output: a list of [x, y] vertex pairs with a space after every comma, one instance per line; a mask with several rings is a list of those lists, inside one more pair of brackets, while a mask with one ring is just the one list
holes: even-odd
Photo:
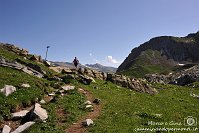
[[[97, 84], [91, 86], [81, 86], [91, 91], [96, 98], [100, 98], [103, 104], [101, 115], [95, 120], [95, 126], [89, 128], [89, 132], [128, 133], [135, 132], [136, 128], [158, 127], [148, 125], [149, 121], [174, 121], [184, 124], [184, 118], [187, 116], [199, 118], [199, 101], [190, 96], [191, 91], [199, 94], [199, 88], [155, 84], [154, 86], [159, 88], [159, 94], [151, 96], [104, 81], [97, 81]], [[94, 89], [95, 86], [98, 89]], [[155, 114], [162, 115], [159, 117]]]

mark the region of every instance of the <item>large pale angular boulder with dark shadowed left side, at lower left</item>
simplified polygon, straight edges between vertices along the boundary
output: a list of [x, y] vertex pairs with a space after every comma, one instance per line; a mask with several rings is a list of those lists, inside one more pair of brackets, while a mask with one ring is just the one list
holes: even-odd
[[36, 103], [34, 107], [22, 119], [22, 123], [34, 120], [45, 121], [47, 118], [48, 118], [47, 111], [41, 108], [40, 104]]

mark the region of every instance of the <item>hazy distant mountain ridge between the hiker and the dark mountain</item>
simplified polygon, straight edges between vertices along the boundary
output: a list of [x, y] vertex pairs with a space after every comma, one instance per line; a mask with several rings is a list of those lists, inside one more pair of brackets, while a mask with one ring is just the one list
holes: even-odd
[[115, 73], [117, 71], [117, 68], [110, 67], [110, 66], [103, 66], [99, 63], [96, 64], [86, 64], [85, 66], [90, 67], [92, 69], [96, 69], [102, 72], [109, 72], [109, 73]]

